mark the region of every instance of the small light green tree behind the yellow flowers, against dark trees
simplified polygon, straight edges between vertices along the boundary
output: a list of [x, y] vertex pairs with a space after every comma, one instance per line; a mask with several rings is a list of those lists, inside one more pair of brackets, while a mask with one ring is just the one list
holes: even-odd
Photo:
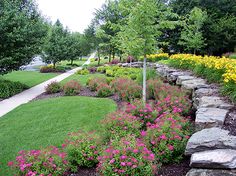
[[184, 21], [184, 29], [181, 32], [179, 44], [188, 50], [193, 50], [194, 54], [204, 46], [205, 39], [203, 38], [202, 27], [206, 19], [206, 12], [195, 7]]

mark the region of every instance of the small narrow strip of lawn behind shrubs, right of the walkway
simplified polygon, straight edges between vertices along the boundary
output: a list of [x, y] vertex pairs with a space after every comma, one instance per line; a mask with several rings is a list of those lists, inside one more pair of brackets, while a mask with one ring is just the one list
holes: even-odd
[[65, 83], [67, 83], [70, 80], [78, 80], [82, 85], [86, 85], [86, 82], [89, 78], [91, 77], [105, 77], [104, 74], [88, 74], [88, 75], [79, 75], [79, 74], [73, 74], [70, 77], [64, 79], [61, 83], [64, 85]]

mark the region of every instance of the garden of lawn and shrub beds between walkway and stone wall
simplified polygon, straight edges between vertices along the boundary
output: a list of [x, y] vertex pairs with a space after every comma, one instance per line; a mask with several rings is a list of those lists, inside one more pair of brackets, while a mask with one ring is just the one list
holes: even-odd
[[[189, 94], [149, 69], [143, 104], [141, 71], [117, 64], [85, 67], [48, 84], [45, 93], [1, 121], [1, 158], [9, 166], [4, 170], [17, 175], [156, 175], [183, 163], [175, 167], [179, 175], [186, 173]], [[17, 125], [7, 125], [12, 121]], [[10, 131], [15, 132], [6, 135]]]

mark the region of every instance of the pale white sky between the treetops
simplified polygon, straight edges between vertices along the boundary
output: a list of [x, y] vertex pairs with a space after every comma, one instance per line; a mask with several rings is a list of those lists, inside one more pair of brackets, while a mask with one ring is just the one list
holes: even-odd
[[73, 32], [83, 33], [105, 0], [36, 0], [39, 10], [53, 22], [57, 19]]

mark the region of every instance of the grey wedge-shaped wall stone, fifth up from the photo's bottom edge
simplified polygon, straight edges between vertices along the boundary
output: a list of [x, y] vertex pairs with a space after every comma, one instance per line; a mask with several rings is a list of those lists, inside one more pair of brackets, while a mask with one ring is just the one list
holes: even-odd
[[220, 97], [203, 96], [199, 99], [199, 107], [198, 108], [231, 109], [231, 108], [233, 108], [233, 105], [223, 101]]

